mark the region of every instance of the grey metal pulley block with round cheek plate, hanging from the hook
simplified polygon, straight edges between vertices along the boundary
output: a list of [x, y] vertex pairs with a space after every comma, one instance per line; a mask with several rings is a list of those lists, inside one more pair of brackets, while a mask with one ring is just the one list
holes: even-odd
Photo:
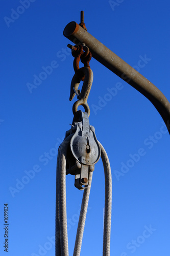
[[[79, 111], [81, 121], [76, 124], [76, 131], [70, 140], [70, 151], [76, 160], [75, 186], [83, 190], [88, 187], [89, 172], [99, 161], [101, 149], [95, 136], [95, 129], [89, 124], [88, 114]], [[81, 166], [81, 167], [80, 167]]]

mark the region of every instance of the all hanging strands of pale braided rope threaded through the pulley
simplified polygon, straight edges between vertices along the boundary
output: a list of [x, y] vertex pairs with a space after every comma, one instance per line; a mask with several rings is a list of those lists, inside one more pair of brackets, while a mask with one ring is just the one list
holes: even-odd
[[[66, 184], [65, 184], [65, 167], [66, 152], [68, 142], [72, 134], [69, 135], [60, 145], [57, 157], [57, 182], [56, 182], [56, 256], [68, 256], [68, 237], [67, 237], [67, 215], [66, 215]], [[101, 147], [101, 158], [105, 172], [105, 217], [103, 233], [103, 256], [110, 255], [110, 231], [111, 231], [111, 206], [112, 206], [112, 179], [109, 159], [104, 147]], [[92, 181], [92, 172], [89, 172], [89, 185], [84, 190], [76, 242], [73, 256], [80, 256], [83, 232], [87, 214], [87, 207], [90, 195]]]

